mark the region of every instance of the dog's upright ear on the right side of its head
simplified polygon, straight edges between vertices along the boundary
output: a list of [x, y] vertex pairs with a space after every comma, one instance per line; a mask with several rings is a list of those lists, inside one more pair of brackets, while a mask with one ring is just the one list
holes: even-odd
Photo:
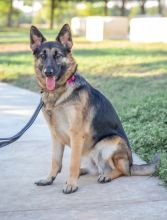
[[71, 29], [68, 24], [63, 25], [56, 40], [59, 41], [61, 44], [63, 44], [66, 48], [71, 50], [73, 46], [73, 42], [72, 42]]

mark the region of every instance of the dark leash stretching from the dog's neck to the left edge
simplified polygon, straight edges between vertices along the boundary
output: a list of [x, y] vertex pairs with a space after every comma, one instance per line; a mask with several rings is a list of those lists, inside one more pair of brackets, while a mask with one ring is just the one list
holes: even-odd
[[21, 131], [19, 131], [17, 134], [15, 134], [12, 137], [0, 138], [0, 148], [5, 147], [6, 145], [11, 144], [11, 143], [15, 142], [16, 140], [18, 140], [27, 131], [27, 129], [29, 129], [31, 127], [31, 125], [34, 123], [34, 121], [37, 118], [37, 116], [38, 116], [41, 108], [43, 107], [43, 105], [44, 105], [44, 103], [41, 99], [39, 105], [37, 106], [37, 108], [34, 112], [34, 114], [30, 118], [30, 120], [27, 122], [27, 124], [21, 129]]

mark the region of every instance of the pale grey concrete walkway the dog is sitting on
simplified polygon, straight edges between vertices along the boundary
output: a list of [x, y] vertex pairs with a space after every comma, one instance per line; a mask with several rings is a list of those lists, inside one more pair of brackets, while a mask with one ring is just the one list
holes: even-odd
[[[39, 98], [0, 83], [0, 137], [22, 128]], [[34, 185], [50, 166], [50, 136], [42, 114], [19, 141], [0, 149], [0, 220], [167, 219], [167, 192], [153, 177], [121, 177], [98, 184], [96, 177], [87, 175], [80, 178], [78, 192], [64, 195], [69, 153], [67, 148], [63, 171], [53, 185]]]

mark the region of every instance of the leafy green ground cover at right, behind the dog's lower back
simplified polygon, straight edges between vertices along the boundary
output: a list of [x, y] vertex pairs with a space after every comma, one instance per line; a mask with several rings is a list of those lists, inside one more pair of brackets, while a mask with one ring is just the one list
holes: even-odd
[[160, 154], [158, 174], [167, 184], [166, 107], [167, 93], [158, 89], [153, 94], [146, 95], [138, 104], [132, 105], [122, 118], [137, 154], [146, 161], [150, 161], [155, 154]]

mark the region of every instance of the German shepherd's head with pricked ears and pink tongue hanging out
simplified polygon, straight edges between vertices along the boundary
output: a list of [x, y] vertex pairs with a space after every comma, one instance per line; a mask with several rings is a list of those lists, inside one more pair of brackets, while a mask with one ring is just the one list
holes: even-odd
[[55, 41], [46, 41], [41, 32], [32, 26], [30, 47], [35, 56], [35, 72], [40, 87], [54, 91], [74, 74], [77, 64], [72, 57], [72, 35], [68, 24], [60, 30]]

